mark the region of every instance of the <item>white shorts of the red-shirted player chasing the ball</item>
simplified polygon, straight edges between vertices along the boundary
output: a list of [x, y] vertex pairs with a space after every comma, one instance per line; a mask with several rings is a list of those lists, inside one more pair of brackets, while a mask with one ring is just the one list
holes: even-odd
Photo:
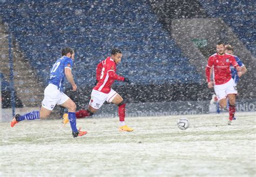
[[111, 103], [114, 97], [117, 96], [117, 94], [118, 93], [114, 91], [112, 88], [109, 93], [103, 93], [93, 89], [89, 105], [98, 110], [100, 107], [102, 107], [105, 101]]

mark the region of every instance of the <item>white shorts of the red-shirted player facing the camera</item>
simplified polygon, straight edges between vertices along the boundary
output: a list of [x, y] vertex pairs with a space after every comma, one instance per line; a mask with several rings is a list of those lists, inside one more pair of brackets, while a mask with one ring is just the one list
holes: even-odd
[[221, 85], [214, 85], [214, 91], [218, 101], [227, 97], [228, 94], [237, 94], [237, 86], [231, 78], [227, 83]]

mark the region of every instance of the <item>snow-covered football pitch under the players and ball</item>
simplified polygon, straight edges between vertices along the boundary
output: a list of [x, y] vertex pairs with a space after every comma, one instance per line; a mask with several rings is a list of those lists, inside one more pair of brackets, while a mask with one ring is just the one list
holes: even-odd
[[72, 138], [60, 120], [0, 122], [0, 176], [255, 176], [255, 112], [127, 118], [134, 132], [118, 132], [116, 118], [79, 119], [89, 133]]

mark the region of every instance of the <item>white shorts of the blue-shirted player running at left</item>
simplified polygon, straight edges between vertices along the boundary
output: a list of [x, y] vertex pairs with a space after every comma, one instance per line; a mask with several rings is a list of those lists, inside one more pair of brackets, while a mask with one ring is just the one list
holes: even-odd
[[50, 111], [53, 110], [55, 105], [62, 105], [69, 99], [65, 93], [60, 92], [58, 87], [53, 84], [49, 84], [44, 90], [44, 99], [42, 106]]

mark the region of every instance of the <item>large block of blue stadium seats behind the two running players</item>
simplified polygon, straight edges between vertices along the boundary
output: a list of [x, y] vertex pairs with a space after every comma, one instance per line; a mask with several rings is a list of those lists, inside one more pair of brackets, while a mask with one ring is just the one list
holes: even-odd
[[96, 65], [112, 47], [124, 52], [118, 73], [135, 85], [201, 80], [147, 1], [11, 1], [1, 4], [0, 15], [44, 84], [66, 45], [76, 49], [79, 86], [95, 83]]

